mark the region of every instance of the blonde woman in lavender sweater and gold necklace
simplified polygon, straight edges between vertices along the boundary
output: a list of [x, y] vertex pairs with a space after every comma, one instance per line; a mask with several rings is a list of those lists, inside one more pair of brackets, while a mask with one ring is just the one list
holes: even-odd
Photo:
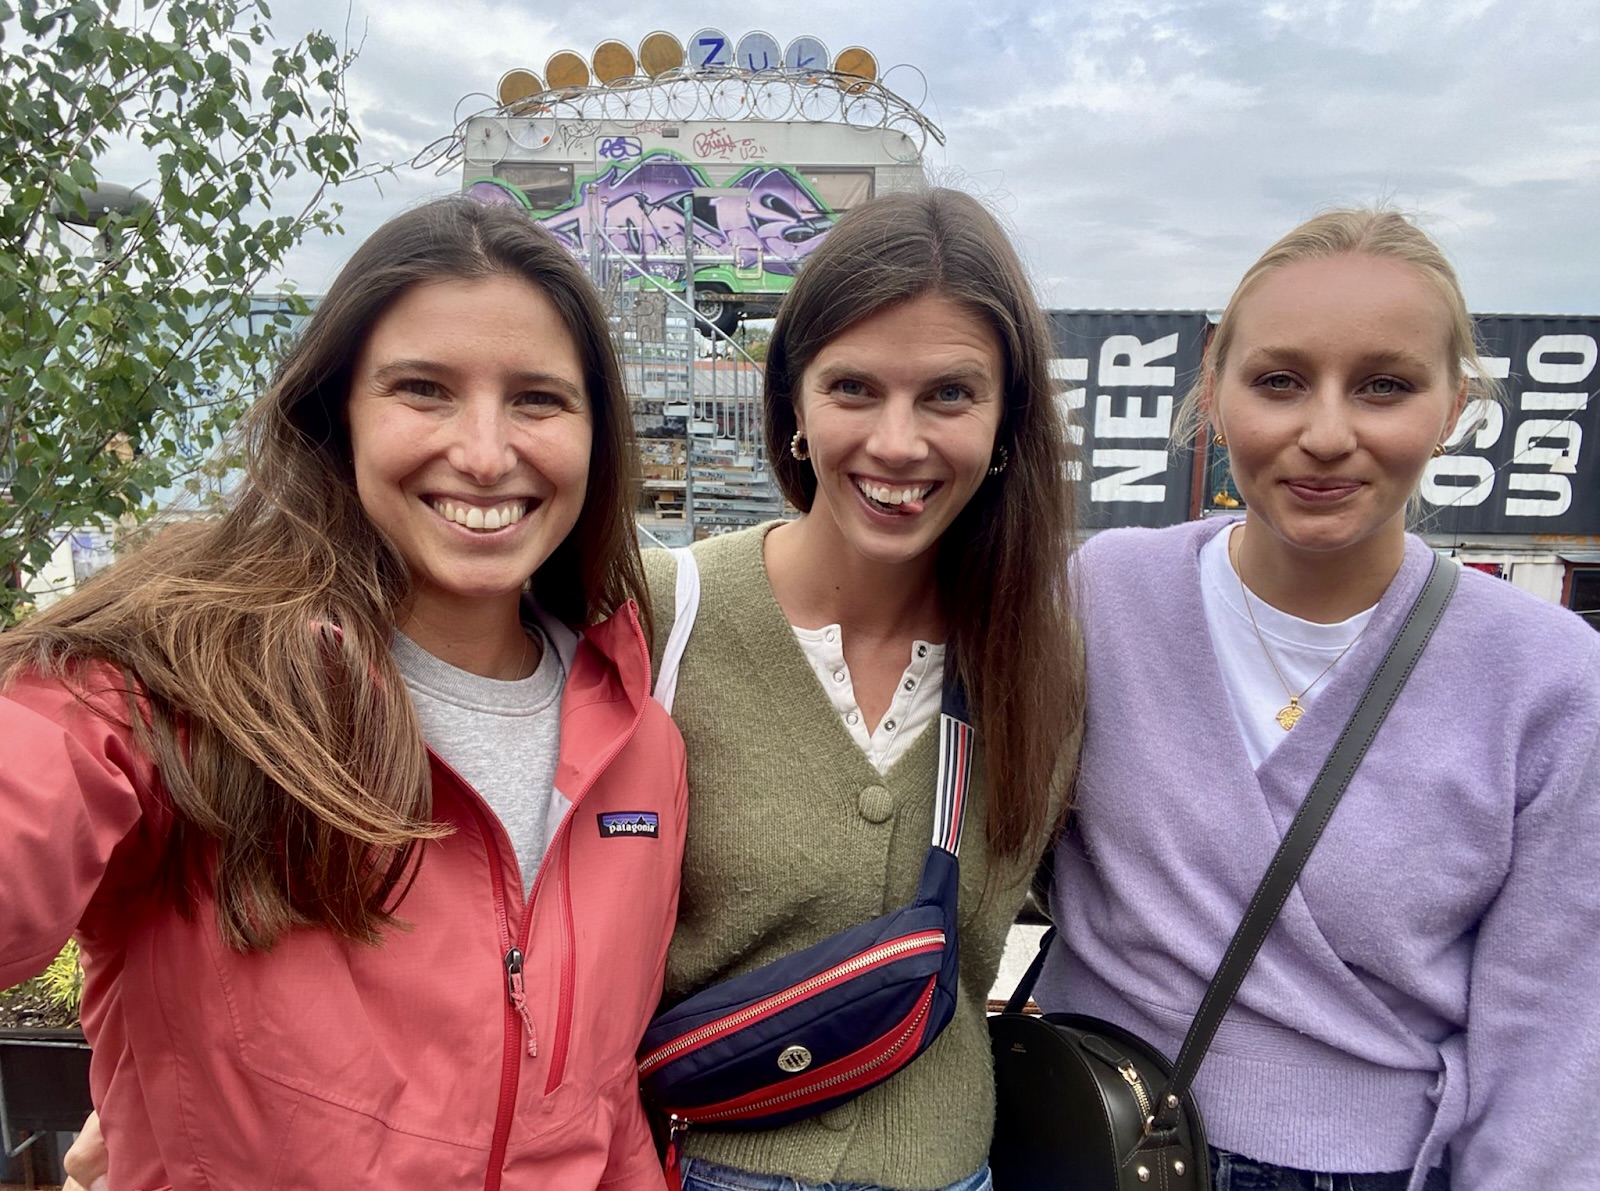
[[[1398, 215], [1318, 216], [1245, 275], [1190, 402], [1246, 515], [1078, 555], [1046, 1010], [1178, 1052], [1426, 578], [1406, 504], [1475, 360]], [[1597, 935], [1600, 636], [1466, 571], [1200, 1068], [1218, 1191], [1595, 1186]]]

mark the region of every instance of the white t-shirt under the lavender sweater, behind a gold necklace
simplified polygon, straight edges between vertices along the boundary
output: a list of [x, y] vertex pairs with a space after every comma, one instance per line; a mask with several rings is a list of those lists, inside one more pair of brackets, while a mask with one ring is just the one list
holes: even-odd
[[1299, 706], [1307, 716], [1317, 714], [1317, 692], [1333, 679], [1333, 671], [1322, 679], [1317, 676], [1366, 628], [1376, 605], [1338, 624], [1317, 624], [1280, 612], [1251, 592], [1250, 610], [1256, 615], [1261, 639], [1266, 639], [1274, 661], [1283, 671], [1280, 680], [1245, 612], [1238, 571], [1227, 557], [1230, 535], [1232, 530], [1218, 533], [1200, 549], [1200, 602], [1234, 722], [1250, 764], [1259, 768], [1288, 735], [1275, 716], [1288, 704], [1290, 693], [1299, 693], [1315, 680], [1301, 696]]

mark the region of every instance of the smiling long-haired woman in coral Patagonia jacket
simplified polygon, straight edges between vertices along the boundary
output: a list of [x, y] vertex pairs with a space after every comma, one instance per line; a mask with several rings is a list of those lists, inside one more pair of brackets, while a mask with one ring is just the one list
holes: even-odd
[[587, 277], [413, 210], [245, 448], [0, 637], [0, 988], [80, 940], [110, 1186], [659, 1188], [683, 749]]

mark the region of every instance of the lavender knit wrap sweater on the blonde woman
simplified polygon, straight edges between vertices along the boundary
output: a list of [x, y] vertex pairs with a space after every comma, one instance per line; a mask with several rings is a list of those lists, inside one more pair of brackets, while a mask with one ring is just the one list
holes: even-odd
[[[1176, 1055], [1267, 860], [1427, 573], [1251, 770], [1200, 605], [1226, 522], [1078, 555], [1090, 711], [1046, 1010]], [[1213, 1145], [1454, 1191], [1600, 1185], [1600, 634], [1475, 571], [1346, 791], [1195, 1082]]]

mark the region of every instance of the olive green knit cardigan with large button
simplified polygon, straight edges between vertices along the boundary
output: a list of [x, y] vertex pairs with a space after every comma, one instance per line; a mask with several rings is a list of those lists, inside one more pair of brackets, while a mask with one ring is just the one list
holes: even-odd
[[[915, 893], [933, 832], [939, 733], [880, 775], [840, 724], [762, 565], [755, 527], [694, 547], [701, 604], [674, 719], [690, 828], [666, 1002], [810, 946]], [[645, 555], [656, 650], [674, 621], [672, 555]], [[856, 1100], [763, 1132], [691, 1130], [685, 1153], [810, 1183], [942, 1188], [982, 1164], [994, 1122], [986, 999], [1032, 866], [989, 882], [982, 752], [973, 764], [955, 1017], [915, 1063]], [[1043, 840], [1040, 840], [1040, 848]]]

